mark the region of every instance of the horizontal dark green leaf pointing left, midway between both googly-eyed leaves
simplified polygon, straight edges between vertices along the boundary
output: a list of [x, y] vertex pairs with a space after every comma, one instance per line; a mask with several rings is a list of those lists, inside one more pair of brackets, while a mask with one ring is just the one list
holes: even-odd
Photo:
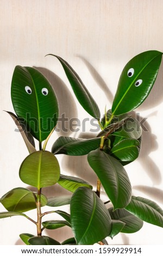
[[65, 154], [70, 156], [82, 156], [88, 154], [91, 150], [99, 147], [100, 139], [76, 139], [72, 137], [59, 137], [54, 142], [52, 153]]

